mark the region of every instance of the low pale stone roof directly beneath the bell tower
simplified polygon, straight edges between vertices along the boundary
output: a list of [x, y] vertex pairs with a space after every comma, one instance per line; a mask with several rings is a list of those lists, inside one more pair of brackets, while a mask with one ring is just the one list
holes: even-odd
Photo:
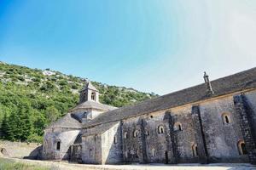
[[77, 106], [75, 106], [71, 111], [83, 110], [83, 109], [96, 109], [100, 111], [112, 111], [117, 109], [111, 105], [103, 105], [96, 101], [85, 101]]

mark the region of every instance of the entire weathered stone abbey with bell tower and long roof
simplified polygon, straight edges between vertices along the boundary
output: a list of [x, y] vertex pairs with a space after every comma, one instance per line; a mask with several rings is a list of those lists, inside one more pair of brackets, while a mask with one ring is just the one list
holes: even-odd
[[136, 105], [79, 105], [45, 129], [43, 159], [91, 164], [256, 162], [256, 68]]

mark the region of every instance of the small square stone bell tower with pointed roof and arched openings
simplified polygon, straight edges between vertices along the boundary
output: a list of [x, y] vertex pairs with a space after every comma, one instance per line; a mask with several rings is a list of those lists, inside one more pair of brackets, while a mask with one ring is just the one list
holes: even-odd
[[89, 80], [84, 80], [84, 88], [80, 91], [79, 104], [86, 101], [99, 103], [99, 91], [91, 84]]

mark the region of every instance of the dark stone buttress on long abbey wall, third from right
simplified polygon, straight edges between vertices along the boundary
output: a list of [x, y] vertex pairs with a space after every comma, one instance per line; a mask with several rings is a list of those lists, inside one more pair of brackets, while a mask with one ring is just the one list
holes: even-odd
[[168, 131], [166, 132], [167, 150], [168, 150], [168, 163], [177, 163], [177, 143], [175, 140], [174, 130], [173, 130], [173, 119], [170, 112], [166, 112], [164, 121], [168, 123]]

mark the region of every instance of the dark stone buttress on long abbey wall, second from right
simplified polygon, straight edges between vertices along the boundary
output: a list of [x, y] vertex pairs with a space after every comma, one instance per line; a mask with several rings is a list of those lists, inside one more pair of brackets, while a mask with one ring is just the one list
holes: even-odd
[[201, 163], [208, 163], [207, 142], [202, 126], [199, 105], [192, 106], [191, 114], [195, 127], [195, 142], [197, 144], [199, 161]]

